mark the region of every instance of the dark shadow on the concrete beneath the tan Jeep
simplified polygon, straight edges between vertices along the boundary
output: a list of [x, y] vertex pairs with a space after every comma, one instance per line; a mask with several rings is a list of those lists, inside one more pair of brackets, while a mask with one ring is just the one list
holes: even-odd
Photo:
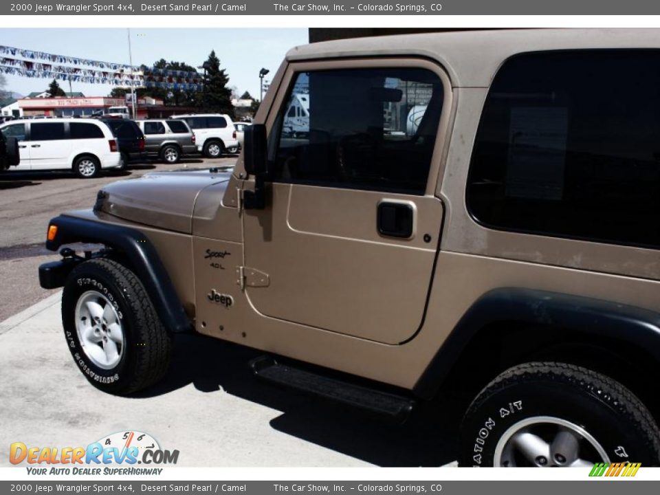
[[162, 395], [192, 383], [200, 392], [222, 389], [279, 410], [272, 428], [369, 463], [439, 466], [455, 459], [456, 426], [441, 407], [424, 404], [406, 424], [393, 425], [377, 415], [257, 380], [248, 361], [262, 354], [206, 336], [179, 335], [164, 380], [133, 397]]

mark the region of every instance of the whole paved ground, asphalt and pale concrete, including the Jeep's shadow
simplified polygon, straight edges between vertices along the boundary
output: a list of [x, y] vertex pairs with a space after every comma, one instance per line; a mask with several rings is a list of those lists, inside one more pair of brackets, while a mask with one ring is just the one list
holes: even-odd
[[[88, 445], [114, 432], [151, 434], [183, 466], [438, 466], [452, 461], [443, 407], [395, 426], [252, 377], [258, 353], [203, 336], [175, 338], [170, 371], [132, 397], [102, 393], [76, 368], [62, 335], [60, 292], [39, 287], [48, 220], [89, 208], [102, 184], [153, 170], [230, 164], [192, 159], [122, 175], [0, 175], [0, 445]], [[23, 311], [21, 311], [23, 309]], [[0, 466], [10, 465], [0, 448]]]

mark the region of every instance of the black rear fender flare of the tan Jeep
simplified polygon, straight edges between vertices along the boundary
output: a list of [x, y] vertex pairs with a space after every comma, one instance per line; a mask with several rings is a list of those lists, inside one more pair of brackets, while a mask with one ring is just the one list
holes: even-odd
[[479, 331], [496, 322], [575, 329], [594, 338], [615, 338], [648, 352], [660, 363], [660, 314], [607, 300], [502, 287], [483, 294], [465, 311], [434, 355], [413, 391], [432, 398]]

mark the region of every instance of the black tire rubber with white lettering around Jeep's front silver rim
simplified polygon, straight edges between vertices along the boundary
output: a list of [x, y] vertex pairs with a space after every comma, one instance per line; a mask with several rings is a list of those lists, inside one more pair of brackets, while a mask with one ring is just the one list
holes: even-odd
[[[89, 298], [89, 294], [93, 297], [94, 292], [111, 304], [124, 336], [121, 358], [109, 369], [90, 358], [76, 327], [78, 300]], [[140, 391], [158, 382], [168, 369], [170, 336], [142, 283], [117, 261], [91, 259], [72, 271], [62, 296], [62, 321], [74, 362], [87, 380], [102, 391], [118, 395]]]

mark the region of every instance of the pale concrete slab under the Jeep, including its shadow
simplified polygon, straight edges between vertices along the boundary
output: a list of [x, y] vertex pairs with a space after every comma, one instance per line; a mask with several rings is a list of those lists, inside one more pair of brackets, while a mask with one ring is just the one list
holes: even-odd
[[[446, 441], [429, 426], [394, 427], [254, 380], [256, 351], [177, 336], [170, 372], [135, 397], [91, 386], [62, 335], [61, 293], [0, 322], [0, 466], [9, 445], [86, 446], [140, 430], [184, 466], [442, 465]], [[435, 424], [437, 430], [439, 424]], [[444, 448], [443, 448], [444, 447]]]

